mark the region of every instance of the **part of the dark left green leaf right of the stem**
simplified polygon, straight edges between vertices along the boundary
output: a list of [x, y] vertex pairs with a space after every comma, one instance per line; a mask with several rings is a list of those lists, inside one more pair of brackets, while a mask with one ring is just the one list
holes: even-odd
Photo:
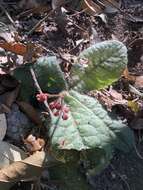
[[59, 93], [67, 89], [64, 75], [55, 56], [39, 58], [34, 70], [44, 92]]

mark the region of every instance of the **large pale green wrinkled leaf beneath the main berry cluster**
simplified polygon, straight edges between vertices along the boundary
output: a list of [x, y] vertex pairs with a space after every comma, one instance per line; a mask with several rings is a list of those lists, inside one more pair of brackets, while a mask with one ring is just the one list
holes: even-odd
[[69, 118], [65, 121], [53, 116], [51, 134], [57, 125], [53, 147], [78, 151], [100, 148], [105, 152], [112, 148], [123, 151], [132, 148], [132, 131], [123, 121], [110, 116], [96, 99], [70, 91], [64, 101], [70, 108]]

